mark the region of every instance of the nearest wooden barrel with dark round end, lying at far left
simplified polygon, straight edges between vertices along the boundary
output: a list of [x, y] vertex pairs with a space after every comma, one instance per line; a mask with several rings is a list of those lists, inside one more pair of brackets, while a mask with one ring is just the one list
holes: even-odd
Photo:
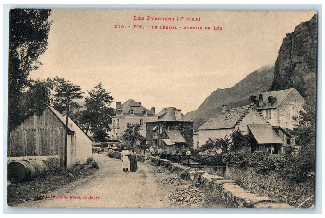
[[36, 175], [36, 170], [32, 164], [26, 161], [14, 161], [7, 165], [8, 179], [15, 179], [17, 182], [31, 180]]

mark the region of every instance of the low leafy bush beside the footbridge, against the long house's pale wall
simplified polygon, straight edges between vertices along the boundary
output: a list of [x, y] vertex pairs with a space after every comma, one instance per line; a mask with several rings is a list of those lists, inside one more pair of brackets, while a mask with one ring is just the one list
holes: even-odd
[[209, 154], [219, 154], [220, 150], [222, 150], [222, 153], [226, 153], [228, 151], [228, 146], [229, 138], [208, 138], [208, 141], [199, 149], [201, 152]]

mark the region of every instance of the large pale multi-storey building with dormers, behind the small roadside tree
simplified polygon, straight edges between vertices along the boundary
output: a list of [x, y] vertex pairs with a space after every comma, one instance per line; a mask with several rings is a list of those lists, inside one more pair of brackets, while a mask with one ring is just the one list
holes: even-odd
[[117, 101], [114, 111], [115, 116], [112, 116], [111, 130], [109, 131], [110, 140], [107, 142], [110, 147], [120, 143], [124, 145], [129, 144], [122, 137], [127, 129], [127, 123], [140, 124], [142, 126], [140, 134], [146, 137], [145, 123], [155, 116], [155, 108], [148, 110], [142, 106], [141, 102], [136, 102], [133, 99], [127, 100], [122, 105], [120, 101]]

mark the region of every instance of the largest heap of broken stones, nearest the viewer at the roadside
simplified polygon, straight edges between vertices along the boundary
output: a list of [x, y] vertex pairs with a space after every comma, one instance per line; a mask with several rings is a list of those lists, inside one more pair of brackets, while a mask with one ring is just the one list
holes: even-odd
[[205, 195], [192, 184], [183, 185], [177, 188], [172, 194], [165, 198], [168, 203], [187, 204], [200, 206], [204, 202]]

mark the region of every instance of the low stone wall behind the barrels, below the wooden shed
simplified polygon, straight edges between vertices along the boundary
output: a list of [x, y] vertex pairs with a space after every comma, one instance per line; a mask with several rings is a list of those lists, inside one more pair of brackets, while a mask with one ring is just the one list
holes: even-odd
[[21, 157], [7, 157], [7, 164], [13, 161], [22, 159], [27, 160], [40, 160], [43, 161], [47, 167], [47, 172], [51, 173], [60, 169], [60, 157], [59, 155], [53, 156], [21, 156]]

